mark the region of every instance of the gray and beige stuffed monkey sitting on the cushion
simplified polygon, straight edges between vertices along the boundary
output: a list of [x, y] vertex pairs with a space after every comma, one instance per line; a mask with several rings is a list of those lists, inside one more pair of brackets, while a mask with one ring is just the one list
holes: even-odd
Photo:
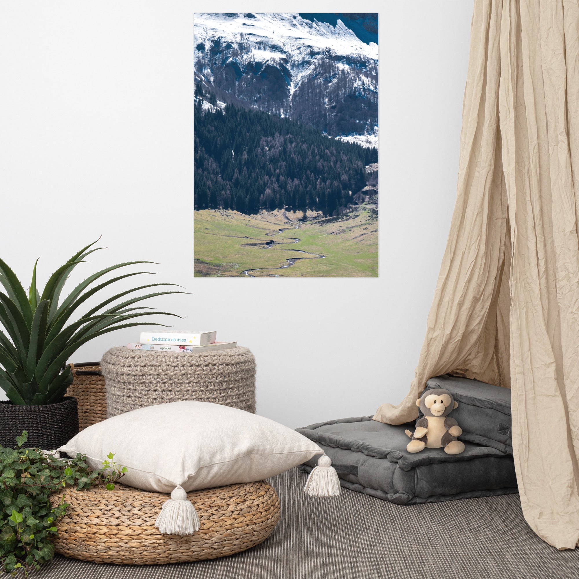
[[420, 407], [424, 417], [416, 420], [414, 433], [406, 430], [406, 434], [412, 438], [406, 450], [420, 452], [425, 447], [444, 447], [444, 452], [448, 455], [460, 455], [464, 444], [456, 437], [463, 433], [463, 429], [455, 419], [448, 416], [458, 405], [452, 394], [444, 388], [424, 390], [416, 401], [416, 406]]

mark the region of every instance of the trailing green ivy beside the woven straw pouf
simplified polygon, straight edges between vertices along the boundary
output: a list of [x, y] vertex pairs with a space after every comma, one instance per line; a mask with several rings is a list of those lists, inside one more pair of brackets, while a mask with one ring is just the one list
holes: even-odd
[[68, 486], [77, 490], [96, 485], [114, 488], [127, 472], [114, 460], [113, 453], [92, 470], [84, 455], [60, 459], [38, 448], [22, 448], [28, 433], [16, 437], [16, 448], [0, 446], [0, 565], [13, 576], [28, 577], [54, 556], [56, 522], [67, 511], [61, 500], [53, 506], [50, 495]]

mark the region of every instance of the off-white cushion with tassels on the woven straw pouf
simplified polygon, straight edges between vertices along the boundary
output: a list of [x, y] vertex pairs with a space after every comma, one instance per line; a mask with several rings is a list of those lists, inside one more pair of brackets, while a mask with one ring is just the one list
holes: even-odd
[[[283, 424], [196, 401], [113, 416], [85, 428], [58, 450], [86, 455], [92, 468], [101, 468], [107, 455], [115, 453], [116, 463], [128, 469], [119, 482], [171, 493], [156, 526], [162, 533], [182, 535], [199, 529], [187, 492], [261, 481], [323, 455], [317, 444]], [[310, 496], [335, 496], [339, 481], [331, 461], [324, 455], [319, 462], [304, 490]]]

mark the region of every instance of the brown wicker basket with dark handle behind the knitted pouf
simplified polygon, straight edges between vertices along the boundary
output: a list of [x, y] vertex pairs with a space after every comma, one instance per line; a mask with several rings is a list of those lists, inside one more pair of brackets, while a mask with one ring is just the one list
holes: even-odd
[[[69, 364], [74, 382], [67, 394], [78, 401], [79, 431], [107, 419], [107, 389], [99, 362]], [[82, 368], [82, 369], [79, 369]]]

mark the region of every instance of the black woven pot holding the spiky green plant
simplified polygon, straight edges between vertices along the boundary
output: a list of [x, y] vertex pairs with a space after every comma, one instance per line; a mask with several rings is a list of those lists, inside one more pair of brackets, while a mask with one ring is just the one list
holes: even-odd
[[0, 444], [14, 448], [16, 437], [25, 430], [24, 448], [54, 450], [78, 434], [76, 398], [65, 396], [56, 404], [20, 406], [0, 401]]

